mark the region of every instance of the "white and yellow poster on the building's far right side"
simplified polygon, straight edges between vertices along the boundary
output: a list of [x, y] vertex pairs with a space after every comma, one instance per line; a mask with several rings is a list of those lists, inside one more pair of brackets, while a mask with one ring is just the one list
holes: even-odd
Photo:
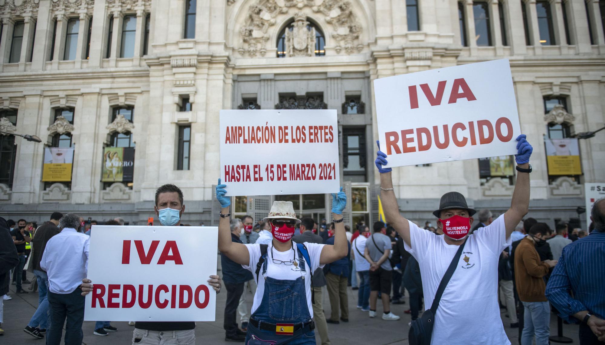
[[544, 139], [549, 175], [581, 175], [578, 139]]

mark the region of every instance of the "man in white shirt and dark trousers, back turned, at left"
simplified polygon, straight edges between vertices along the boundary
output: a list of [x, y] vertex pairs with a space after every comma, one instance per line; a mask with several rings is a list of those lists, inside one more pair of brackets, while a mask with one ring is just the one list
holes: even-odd
[[61, 232], [48, 240], [40, 267], [48, 274], [50, 329], [47, 344], [59, 344], [65, 326], [65, 345], [82, 344], [84, 300], [80, 284], [88, 269], [90, 236], [77, 232], [80, 217], [66, 214], [59, 220]]

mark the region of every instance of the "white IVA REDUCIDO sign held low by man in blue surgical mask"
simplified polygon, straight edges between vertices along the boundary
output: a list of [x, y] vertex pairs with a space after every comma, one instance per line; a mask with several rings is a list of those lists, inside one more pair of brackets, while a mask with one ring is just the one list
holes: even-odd
[[97, 226], [84, 320], [214, 321], [217, 227]]

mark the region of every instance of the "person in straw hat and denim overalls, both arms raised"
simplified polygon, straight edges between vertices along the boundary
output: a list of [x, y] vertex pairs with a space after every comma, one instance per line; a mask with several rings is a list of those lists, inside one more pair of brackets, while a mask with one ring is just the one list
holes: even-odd
[[252, 271], [258, 282], [248, 323], [246, 345], [315, 344], [311, 276], [318, 267], [347, 255], [347, 236], [342, 210], [347, 196], [332, 194], [335, 223], [334, 245], [292, 241], [294, 227], [300, 223], [291, 201], [274, 201], [264, 221], [271, 224], [273, 240], [266, 244], [231, 241], [227, 185], [218, 180], [217, 200], [221, 204], [218, 223], [218, 249], [229, 259]]

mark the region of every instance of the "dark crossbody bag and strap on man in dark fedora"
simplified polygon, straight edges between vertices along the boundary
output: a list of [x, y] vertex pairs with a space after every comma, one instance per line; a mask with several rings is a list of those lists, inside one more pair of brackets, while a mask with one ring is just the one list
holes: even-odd
[[445, 274], [443, 274], [443, 278], [441, 279], [439, 288], [437, 288], [437, 293], [435, 294], [435, 299], [433, 299], [431, 309], [425, 310], [419, 318], [412, 321], [410, 325], [410, 332], [408, 333], [408, 341], [410, 342], [410, 345], [431, 344], [433, 325], [435, 324], [435, 314], [437, 312], [437, 308], [439, 307], [439, 301], [441, 300], [445, 286], [448, 285], [448, 282], [450, 282], [450, 279], [456, 270], [465, 244], [466, 241], [460, 245], [456, 255], [454, 255], [454, 258], [450, 262], [450, 267], [448, 267], [448, 270], [445, 271]]

